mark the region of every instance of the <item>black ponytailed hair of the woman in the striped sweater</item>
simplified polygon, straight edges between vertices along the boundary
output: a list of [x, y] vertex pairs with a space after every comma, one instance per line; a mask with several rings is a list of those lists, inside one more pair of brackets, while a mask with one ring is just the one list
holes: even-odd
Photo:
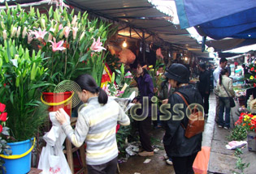
[[108, 96], [106, 95], [106, 91], [102, 90], [101, 87], [98, 87], [91, 75], [81, 74], [76, 78], [76, 83], [80, 86], [81, 90], [90, 91], [93, 94], [98, 93], [98, 103], [107, 103]]

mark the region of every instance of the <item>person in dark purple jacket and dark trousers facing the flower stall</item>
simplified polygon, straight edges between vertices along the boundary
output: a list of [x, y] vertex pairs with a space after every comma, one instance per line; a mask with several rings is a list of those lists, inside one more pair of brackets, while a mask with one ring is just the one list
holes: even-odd
[[[153, 148], [150, 142], [150, 129], [151, 129], [151, 98], [154, 96], [154, 84], [153, 80], [150, 77], [150, 74], [145, 70], [145, 63], [140, 62], [137, 65], [137, 86], [139, 95], [133, 100], [133, 103], [141, 104], [142, 109], [138, 109], [140, 112], [137, 114], [140, 115], [143, 107], [148, 107], [149, 112], [147, 117], [142, 121], [138, 122], [138, 129], [140, 135], [141, 146], [144, 151], [140, 152], [140, 156], [151, 156], [154, 155]], [[143, 97], [146, 96], [149, 99], [149, 106], [143, 104]]]

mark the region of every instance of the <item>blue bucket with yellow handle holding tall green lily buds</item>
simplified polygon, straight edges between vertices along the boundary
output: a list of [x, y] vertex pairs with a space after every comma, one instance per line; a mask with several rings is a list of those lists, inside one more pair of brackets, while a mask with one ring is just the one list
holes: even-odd
[[[33, 51], [30, 56], [28, 49], [15, 45], [15, 40], [5, 40], [0, 50], [0, 88], [4, 96], [1, 100], [5, 100], [6, 110], [11, 116], [7, 120], [10, 127], [7, 142], [13, 152], [5, 158], [5, 167], [7, 172], [27, 173], [31, 166], [33, 138], [47, 117], [46, 107], [39, 98], [39, 87], [49, 85], [42, 81], [42, 74], [46, 72], [42, 64], [43, 54]], [[25, 152], [29, 153], [22, 155]]]

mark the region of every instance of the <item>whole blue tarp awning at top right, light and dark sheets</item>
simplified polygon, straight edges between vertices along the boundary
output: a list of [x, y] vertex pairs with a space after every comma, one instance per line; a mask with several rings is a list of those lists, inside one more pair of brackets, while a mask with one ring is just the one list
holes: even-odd
[[176, 7], [180, 28], [215, 40], [256, 38], [256, 0], [176, 0]]

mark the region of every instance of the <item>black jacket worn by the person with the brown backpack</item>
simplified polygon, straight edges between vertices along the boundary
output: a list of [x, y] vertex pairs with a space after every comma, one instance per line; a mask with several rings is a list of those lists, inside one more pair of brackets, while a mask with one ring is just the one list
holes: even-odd
[[[189, 104], [196, 103], [202, 105], [202, 97], [199, 91], [192, 85], [179, 87], [176, 91], [179, 91], [184, 95], [184, 98]], [[172, 94], [169, 97], [168, 103], [171, 104], [171, 119], [165, 121], [166, 133], [163, 137], [163, 144], [167, 151], [167, 155], [171, 157], [183, 157], [201, 151], [202, 134], [197, 134], [192, 138], [186, 138], [184, 136], [184, 129], [180, 125], [180, 123], [182, 123], [186, 127], [189, 122], [189, 119], [185, 114], [187, 106], [184, 104], [184, 100], [182, 100], [180, 95]], [[180, 111], [184, 112], [184, 118], [180, 121], [172, 120], [173, 115], [177, 115], [177, 113], [173, 112], [174, 104], [184, 104], [184, 108], [180, 109]]]

